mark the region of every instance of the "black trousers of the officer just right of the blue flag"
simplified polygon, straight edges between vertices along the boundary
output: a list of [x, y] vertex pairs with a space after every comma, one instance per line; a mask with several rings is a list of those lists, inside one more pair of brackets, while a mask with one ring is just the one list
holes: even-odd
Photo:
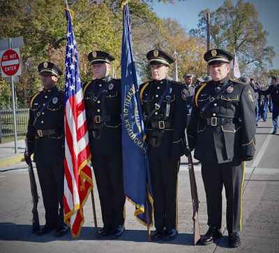
[[177, 229], [177, 174], [180, 159], [149, 157], [156, 229]]

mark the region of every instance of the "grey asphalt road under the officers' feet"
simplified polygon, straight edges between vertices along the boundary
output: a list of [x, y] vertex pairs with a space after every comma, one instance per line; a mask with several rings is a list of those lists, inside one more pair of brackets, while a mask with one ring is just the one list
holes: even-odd
[[[229, 248], [225, 225], [225, 191], [223, 192], [223, 238], [207, 246], [193, 246], [193, 207], [186, 158], [181, 160], [178, 194], [177, 238], [170, 242], [148, 242], [146, 227], [134, 217], [134, 206], [126, 201], [126, 231], [118, 240], [98, 240], [95, 236], [91, 199], [84, 207], [84, 226], [80, 238], [70, 233], [56, 238], [54, 232], [45, 236], [31, 233], [31, 192], [29, 174], [24, 162], [0, 168], [0, 251], [8, 252], [91, 252], [91, 253], [172, 253], [172, 252], [279, 252], [279, 135], [273, 136], [271, 114], [268, 122], [257, 127], [255, 159], [246, 164], [243, 191], [243, 231], [241, 247]], [[35, 165], [35, 164], [33, 164]], [[200, 165], [195, 166], [199, 194], [199, 224], [201, 233], [206, 225], [206, 198]], [[38, 177], [36, 175], [37, 185]], [[94, 183], [94, 185], [96, 185]], [[38, 186], [39, 196], [40, 187]], [[98, 226], [101, 227], [98, 191], [94, 187]], [[43, 200], [39, 199], [40, 224], [45, 223]], [[151, 231], [153, 231], [153, 227]]]

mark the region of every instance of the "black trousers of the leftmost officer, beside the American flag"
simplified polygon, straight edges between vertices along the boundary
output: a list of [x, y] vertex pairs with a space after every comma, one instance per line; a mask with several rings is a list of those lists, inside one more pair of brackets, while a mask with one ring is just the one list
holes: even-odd
[[36, 164], [36, 168], [45, 206], [45, 224], [50, 226], [63, 224], [64, 166]]

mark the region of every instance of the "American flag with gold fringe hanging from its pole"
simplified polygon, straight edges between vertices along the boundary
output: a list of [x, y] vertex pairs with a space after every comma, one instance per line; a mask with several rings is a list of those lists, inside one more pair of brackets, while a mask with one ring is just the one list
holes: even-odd
[[65, 178], [64, 221], [73, 238], [80, 236], [84, 224], [83, 206], [93, 189], [90, 167], [91, 152], [85, 116], [82, 82], [80, 80], [77, 42], [70, 11], [66, 9], [66, 83], [65, 83]]

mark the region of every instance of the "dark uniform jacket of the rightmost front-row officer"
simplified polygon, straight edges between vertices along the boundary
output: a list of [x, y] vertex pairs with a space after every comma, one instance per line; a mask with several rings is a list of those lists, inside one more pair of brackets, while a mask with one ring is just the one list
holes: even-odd
[[[231, 85], [201, 110], [223, 86]], [[255, 152], [255, 101], [250, 85], [228, 77], [204, 83], [195, 94], [188, 125], [189, 146], [195, 158], [206, 163], [223, 164], [252, 159]]]

